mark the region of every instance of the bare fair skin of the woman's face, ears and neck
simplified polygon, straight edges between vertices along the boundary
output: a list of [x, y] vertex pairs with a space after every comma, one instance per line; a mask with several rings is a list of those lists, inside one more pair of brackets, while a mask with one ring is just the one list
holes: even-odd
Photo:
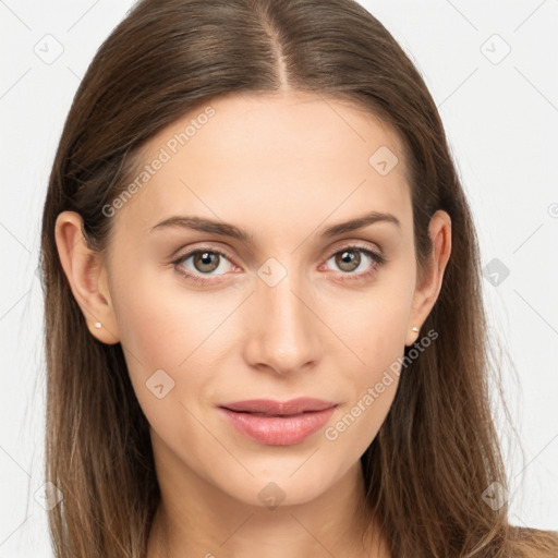
[[[300, 444], [260, 445], [216, 405], [310, 396], [338, 403], [327, 426], [336, 425], [405, 344], [426, 336], [412, 327], [421, 328], [438, 296], [450, 218], [433, 216], [433, 264], [418, 281], [407, 167], [389, 126], [347, 104], [293, 92], [229, 96], [211, 107], [215, 117], [111, 217], [107, 257], [87, 248], [78, 215], [61, 214], [56, 228], [90, 332], [122, 343], [151, 427], [162, 504], [148, 557], [388, 557], [374, 518], [361, 509], [359, 460], [389, 411], [396, 374], [335, 440], [323, 428]], [[154, 136], [146, 163], [201, 112]], [[399, 158], [386, 175], [368, 163], [380, 146]], [[320, 235], [371, 210], [395, 215], [401, 227], [378, 221]], [[234, 223], [254, 240], [180, 227], [151, 231], [177, 215]], [[335, 255], [355, 243], [387, 262], [374, 269], [355, 248], [357, 268], [342, 267]], [[172, 263], [201, 247], [231, 257], [214, 255], [214, 271], [195, 267], [193, 257]], [[272, 287], [257, 275], [270, 257], [287, 270]], [[209, 282], [194, 283], [181, 268], [209, 275]], [[174, 388], [158, 399], [145, 384], [161, 368]], [[284, 495], [275, 509], [258, 497], [269, 483]]]

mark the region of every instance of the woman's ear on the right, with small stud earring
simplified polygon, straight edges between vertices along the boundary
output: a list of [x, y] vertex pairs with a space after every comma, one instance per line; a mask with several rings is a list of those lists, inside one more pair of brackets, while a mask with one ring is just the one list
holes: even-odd
[[451, 218], [441, 209], [436, 211], [428, 226], [433, 252], [428, 269], [424, 272], [421, 284], [417, 286], [413, 295], [413, 304], [409, 316], [407, 328], [405, 345], [413, 344], [418, 338], [420, 332], [412, 328], [421, 329], [433, 308], [441, 289], [444, 271], [451, 253]]

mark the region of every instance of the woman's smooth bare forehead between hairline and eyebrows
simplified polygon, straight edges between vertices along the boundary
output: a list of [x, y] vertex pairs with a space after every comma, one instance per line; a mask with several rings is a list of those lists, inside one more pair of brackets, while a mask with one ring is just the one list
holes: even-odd
[[[388, 173], [378, 157], [395, 165]], [[277, 230], [364, 209], [404, 221], [410, 211], [398, 135], [371, 112], [314, 94], [216, 98], [151, 137], [142, 162], [149, 169], [118, 219], [144, 230], [179, 214]]]

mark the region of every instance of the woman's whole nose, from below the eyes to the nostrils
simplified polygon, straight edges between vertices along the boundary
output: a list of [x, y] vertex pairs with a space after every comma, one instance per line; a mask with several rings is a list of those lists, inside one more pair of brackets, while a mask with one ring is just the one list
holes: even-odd
[[281, 376], [315, 366], [326, 329], [316, 313], [315, 298], [290, 274], [272, 287], [258, 280], [246, 308], [246, 362]]

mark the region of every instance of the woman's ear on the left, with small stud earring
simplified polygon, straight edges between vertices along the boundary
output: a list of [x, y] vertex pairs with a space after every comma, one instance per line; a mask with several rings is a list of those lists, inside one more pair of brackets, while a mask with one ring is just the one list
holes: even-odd
[[[89, 331], [104, 343], [118, 343], [120, 338], [105, 263], [100, 254], [89, 248], [81, 215], [62, 211], [57, 218], [54, 236], [62, 268]], [[99, 323], [100, 328], [95, 327]]]

